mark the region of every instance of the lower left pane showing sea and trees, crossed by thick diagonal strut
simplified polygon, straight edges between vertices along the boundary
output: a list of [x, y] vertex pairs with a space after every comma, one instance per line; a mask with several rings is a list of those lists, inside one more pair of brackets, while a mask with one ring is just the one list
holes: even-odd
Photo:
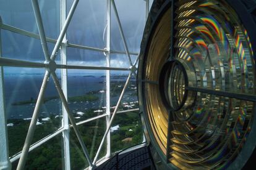
[[[45, 70], [7, 67], [4, 72], [9, 155], [12, 156], [22, 150]], [[61, 109], [61, 100], [49, 79], [32, 143], [61, 127]]]

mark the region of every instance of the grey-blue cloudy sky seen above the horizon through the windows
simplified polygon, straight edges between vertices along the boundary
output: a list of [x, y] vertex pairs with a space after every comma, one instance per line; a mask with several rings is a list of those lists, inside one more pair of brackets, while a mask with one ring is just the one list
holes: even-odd
[[[67, 0], [67, 11], [69, 11], [72, 2]], [[145, 1], [115, 0], [115, 2], [128, 49], [130, 52], [139, 53], [140, 41], [145, 26]], [[38, 3], [40, 4], [46, 36], [57, 39], [60, 32], [59, 1], [39, 0]], [[2, 22], [7, 25], [38, 33], [30, 0], [1, 1], [0, 16]], [[106, 47], [106, 23], [106, 0], [79, 1], [67, 30], [67, 39], [72, 44], [104, 49]], [[2, 57], [33, 62], [43, 62], [45, 60], [39, 39], [6, 30], [1, 30], [1, 39]], [[48, 43], [49, 54], [53, 51], [53, 47], [54, 44]], [[111, 50], [124, 51], [113, 8], [111, 8]], [[135, 60], [135, 57], [132, 56], [132, 60]], [[106, 65], [106, 56], [103, 52], [84, 49], [68, 48], [67, 60], [70, 65]], [[56, 62], [59, 61], [60, 56], [58, 55]], [[127, 56], [111, 54], [111, 67], [129, 67]]]

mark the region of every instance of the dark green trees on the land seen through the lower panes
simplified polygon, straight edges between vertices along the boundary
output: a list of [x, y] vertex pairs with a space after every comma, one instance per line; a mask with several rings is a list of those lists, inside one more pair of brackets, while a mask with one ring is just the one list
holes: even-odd
[[[84, 111], [84, 113], [85, 115], [81, 116], [83, 119], [95, 116], [92, 109]], [[49, 121], [37, 125], [33, 143], [56, 131], [61, 126], [61, 119], [61, 117], [55, 118], [51, 116]], [[39, 121], [42, 122], [40, 118]], [[14, 155], [22, 150], [30, 121], [11, 119], [8, 123], [14, 123], [14, 126], [7, 128], [9, 134], [9, 154]], [[138, 112], [116, 115], [113, 126], [117, 124], [119, 125], [119, 129], [111, 132], [111, 152], [118, 152], [142, 142], [142, 126]], [[106, 129], [105, 118], [96, 119], [81, 124], [78, 127], [90, 157], [94, 158]], [[129, 131], [129, 129], [132, 129], [132, 131]], [[131, 140], [122, 141], [127, 138]], [[62, 154], [62, 134], [59, 134], [28, 154], [25, 169], [62, 169]], [[105, 154], [106, 146], [103, 145], [99, 158], [102, 158]], [[70, 129], [70, 159], [72, 169], [84, 169], [88, 167], [87, 160], [83, 155], [82, 148], [72, 128]], [[13, 169], [16, 168], [17, 163], [18, 161], [12, 163]]]

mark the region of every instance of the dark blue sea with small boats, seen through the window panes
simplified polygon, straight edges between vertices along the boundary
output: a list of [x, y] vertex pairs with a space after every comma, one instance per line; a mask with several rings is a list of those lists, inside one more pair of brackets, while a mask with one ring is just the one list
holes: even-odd
[[[32, 117], [35, 103], [29, 101], [37, 99], [43, 76], [44, 74], [41, 73], [4, 75], [4, 99], [6, 103], [7, 119], [30, 119]], [[58, 75], [58, 78], [61, 83], [60, 75]], [[116, 86], [120, 87], [119, 91], [115, 91], [115, 93], [111, 95], [111, 106], [116, 105], [121, 93], [121, 85], [124, 84], [126, 78], [126, 75], [111, 75], [111, 89], [116, 89]], [[134, 87], [135, 79], [131, 81]], [[69, 102], [70, 111], [75, 114], [92, 108], [93, 110], [103, 110], [102, 112], [105, 112], [105, 89], [105, 75], [102, 75], [102, 73], [69, 74], [67, 77], [68, 97], [85, 95], [88, 92], [93, 92], [93, 95], [98, 96], [98, 100], [92, 102]], [[135, 87], [133, 89], [135, 89]], [[128, 89], [124, 95], [123, 101], [137, 101], [137, 96], [134, 95], [134, 93], [135, 90], [131, 91]], [[49, 97], [52, 97], [53, 99], [46, 100], [46, 102], [41, 105], [40, 118], [48, 118], [51, 115], [58, 116], [62, 114], [61, 100], [56, 98], [57, 96], [58, 92], [56, 91], [53, 80], [50, 78], [44, 98], [49, 99]]]

